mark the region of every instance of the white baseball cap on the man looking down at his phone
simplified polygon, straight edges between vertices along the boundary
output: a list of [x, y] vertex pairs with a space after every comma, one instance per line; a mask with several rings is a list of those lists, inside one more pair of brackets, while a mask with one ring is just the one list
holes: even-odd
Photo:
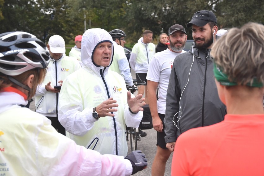
[[65, 53], [65, 41], [62, 36], [54, 35], [49, 39], [50, 51], [53, 53]]

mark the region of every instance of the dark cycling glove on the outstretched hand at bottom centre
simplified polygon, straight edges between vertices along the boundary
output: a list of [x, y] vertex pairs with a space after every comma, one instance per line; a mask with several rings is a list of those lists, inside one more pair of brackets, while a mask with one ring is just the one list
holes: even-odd
[[147, 158], [140, 150], [129, 153], [125, 159], [128, 159], [132, 164], [132, 175], [143, 170], [143, 168], [147, 166]]

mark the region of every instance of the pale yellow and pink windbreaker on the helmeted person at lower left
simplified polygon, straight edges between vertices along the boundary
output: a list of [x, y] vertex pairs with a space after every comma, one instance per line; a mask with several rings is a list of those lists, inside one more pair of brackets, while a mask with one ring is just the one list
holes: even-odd
[[[0, 92], [0, 175], [130, 175], [122, 156], [101, 155], [58, 133], [14, 92]], [[118, 169], [117, 169], [118, 168]]]

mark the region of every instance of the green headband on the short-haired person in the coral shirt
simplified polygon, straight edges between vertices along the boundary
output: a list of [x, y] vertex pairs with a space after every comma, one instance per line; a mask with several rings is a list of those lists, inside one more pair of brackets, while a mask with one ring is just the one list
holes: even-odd
[[[223, 86], [236, 86], [237, 82], [235, 82], [235, 80], [233, 80], [232, 82], [228, 80], [228, 76], [227, 74], [223, 73], [222, 70], [219, 68], [219, 66], [217, 64], [213, 64], [213, 73], [214, 73], [214, 77], [216, 78], [216, 80], [218, 82], [220, 82], [221, 85]], [[253, 79], [253, 83], [247, 83], [247, 86], [250, 87], [263, 87], [262, 82], [257, 82], [257, 79], [254, 78]]]

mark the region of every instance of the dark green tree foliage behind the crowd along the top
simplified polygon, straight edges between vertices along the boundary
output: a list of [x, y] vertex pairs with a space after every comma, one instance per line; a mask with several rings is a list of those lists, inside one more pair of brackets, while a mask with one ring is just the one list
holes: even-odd
[[186, 26], [198, 10], [213, 11], [218, 28], [230, 28], [263, 23], [262, 9], [262, 0], [0, 0], [0, 33], [26, 31], [43, 41], [58, 34], [67, 43], [83, 34], [86, 20], [86, 29], [122, 29], [136, 42], [145, 29], [159, 36], [173, 24]]

